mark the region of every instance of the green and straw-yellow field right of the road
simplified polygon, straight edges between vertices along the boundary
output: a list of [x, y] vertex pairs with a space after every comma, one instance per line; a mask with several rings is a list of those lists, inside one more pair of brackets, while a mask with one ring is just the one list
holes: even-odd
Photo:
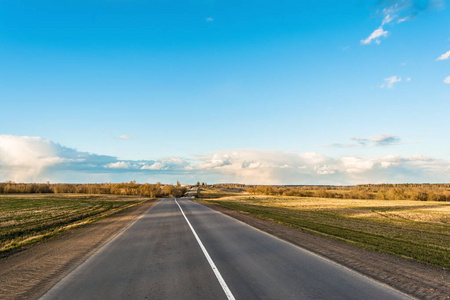
[[286, 226], [450, 268], [450, 203], [303, 198], [203, 189], [201, 198]]

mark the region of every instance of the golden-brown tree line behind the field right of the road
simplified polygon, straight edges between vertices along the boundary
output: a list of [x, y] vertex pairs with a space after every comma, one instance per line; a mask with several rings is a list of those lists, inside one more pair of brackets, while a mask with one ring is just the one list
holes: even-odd
[[450, 201], [450, 184], [364, 184], [357, 186], [268, 186], [246, 188], [250, 194], [338, 199]]

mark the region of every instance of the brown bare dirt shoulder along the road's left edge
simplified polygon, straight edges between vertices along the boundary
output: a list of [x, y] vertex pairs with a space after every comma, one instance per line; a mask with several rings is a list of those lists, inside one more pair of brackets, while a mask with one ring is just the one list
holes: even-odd
[[37, 299], [136, 218], [151, 200], [0, 259], [0, 299]]

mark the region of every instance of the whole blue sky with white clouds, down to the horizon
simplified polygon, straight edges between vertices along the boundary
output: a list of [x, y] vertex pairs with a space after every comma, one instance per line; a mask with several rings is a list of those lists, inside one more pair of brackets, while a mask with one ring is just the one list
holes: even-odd
[[0, 1], [0, 181], [450, 182], [449, 5]]

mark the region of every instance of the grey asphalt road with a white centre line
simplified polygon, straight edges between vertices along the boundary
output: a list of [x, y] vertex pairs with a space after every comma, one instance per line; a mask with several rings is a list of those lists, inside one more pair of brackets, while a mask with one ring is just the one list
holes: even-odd
[[227, 298], [409, 299], [186, 198], [162, 200], [42, 297]]

